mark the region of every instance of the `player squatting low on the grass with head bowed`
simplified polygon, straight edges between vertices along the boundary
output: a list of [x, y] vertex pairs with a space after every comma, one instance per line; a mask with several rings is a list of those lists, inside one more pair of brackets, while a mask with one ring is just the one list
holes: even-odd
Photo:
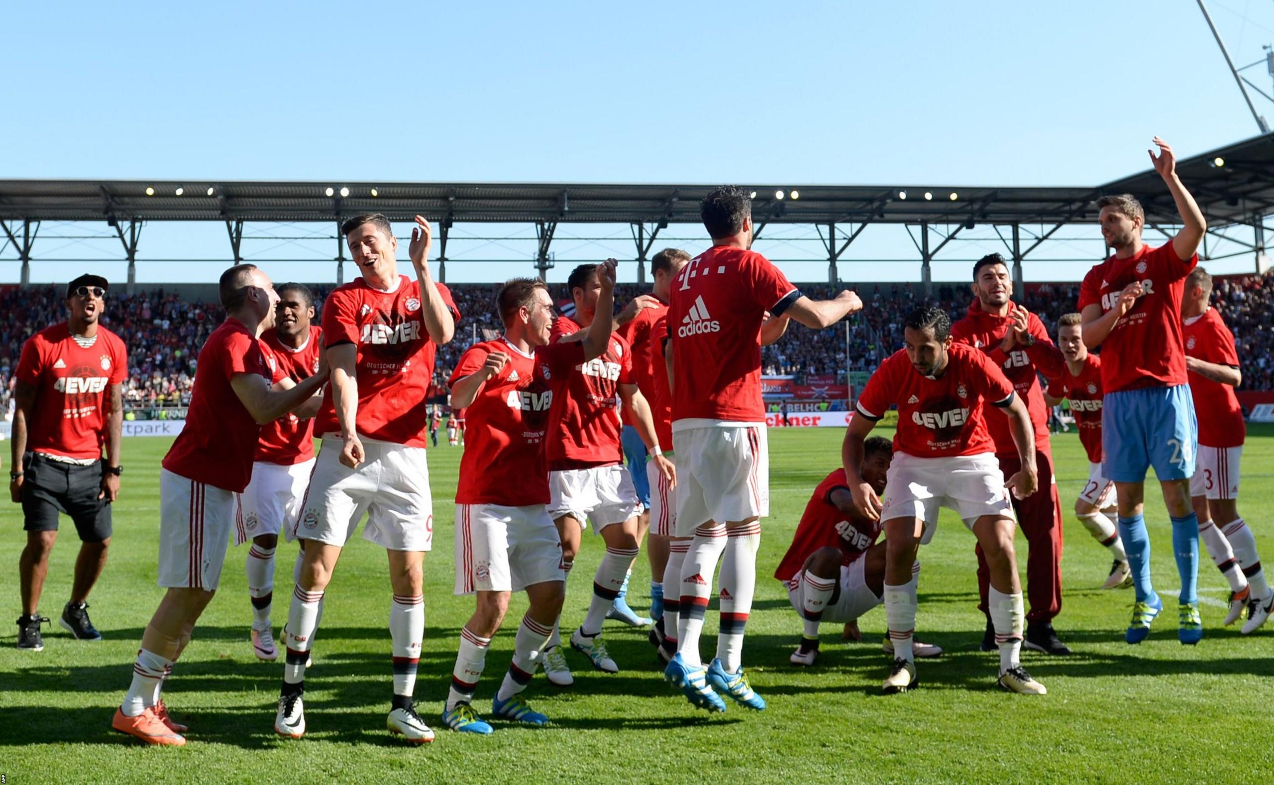
[[[862, 479], [879, 494], [884, 491], [893, 445], [883, 436], [873, 436], [862, 443]], [[877, 543], [879, 538], [880, 521], [862, 517], [854, 507], [845, 469], [837, 468], [814, 488], [792, 544], [775, 571], [775, 577], [787, 585], [787, 599], [805, 622], [800, 645], [791, 656], [792, 664], [813, 665], [818, 659], [822, 622], [843, 623], [850, 637], [862, 640], [857, 619], [879, 605], [884, 593], [885, 545]], [[913, 565], [911, 571], [920, 572], [920, 565]], [[893, 641], [888, 637], [884, 650], [893, 654]], [[919, 641], [912, 650], [916, 656], [943, 652], [938, 646]]]

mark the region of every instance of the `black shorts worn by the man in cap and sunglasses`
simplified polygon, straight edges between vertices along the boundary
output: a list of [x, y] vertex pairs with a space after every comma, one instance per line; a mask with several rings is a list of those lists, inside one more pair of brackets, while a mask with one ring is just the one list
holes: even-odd
[[23, 465], [23, 529], [56, 531], [57, 515], [65, 512], [83, 542], [101, 543], [111, 537], [111, 502], [97, 497], [102, 492], [101, 461], [78, 466], [28, 452]]

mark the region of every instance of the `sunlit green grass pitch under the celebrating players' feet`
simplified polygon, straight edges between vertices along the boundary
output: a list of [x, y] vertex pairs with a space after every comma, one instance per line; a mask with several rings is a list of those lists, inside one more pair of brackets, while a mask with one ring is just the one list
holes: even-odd
[[[1274, 558], [1270, 489], [1274, 429], [1252, 428], [1243, 455], [1241, 511], [1266, 557]], [[787, 547], [814, 484], [837, 464], [841, 432], [771, 433], [772, 517], [764, 521], [757, 601], [744, 663], [769, 702], [763, 714], [731, 705], [725, 715], [693, 711], [662, 681], [646, 632], [606, 626], [623, 669], [585, 669], [567, 652], [576, 684], [559, 691], [538, 675], [533, 706], [553, 719], [547, 729], [499, 724], [488, 738], [461, 737], [438, 721], [469, 598], [451, 595], [452, 510], [460, 450], [431, 451], [437, 500], [436, 547], [426, 558], [426, 641], [415, 697], [438, 739], [404, 744], [385, 730], [390, 696], [390, 585], [380, 548], [355, 539], [327, 590], [315, 665], [308, 674], [308, 734], [274, 735], [279, 663], [259, 663], [248, 644], [251, 612], [243, 579], [246, 549], [231, 549], [222, 587], [166, 691], [175, 716], [191, 726], [183, 749], [143, 748], [110, 730], [111, 714], [131, 677], [155, 587], [158, 469], [168, 443], [125, 441], [124, 489], [115, 510], [110, 562], [93, 596], [101, 644], [78, 644], [56, 624], [70, 590], [78, 539], [64, 519], [41, 604], [55, 623], [45, 651], [14, 646], [17, 627], [0, 626], [0, 781], [353, 781], [353, 782], [1269, 782], [1274, 779], [1269, 714], [1274, 706], [1274, 630], [1241, 636], [1222, 628], [1226, 585], [1204, 554], [1203, 644], [1176, 640], [1168, 610], [1140, 646], [1124, 644], [1131, 590], [1097, 589], [1110, 559], [1069, 515], [1087, 477], [1074, 432], [1054, 437], [1057, 484], [1066, 515], [1065, 601], [1056, 627], [1075, 654], [1024, 664], [1047, 687], [1045, 697], [995, 688], [996, 655], [977, 651], [973, 537], [943, 512], [934, 543], [921, 551], [917, 636], [941, 645], [940, 660], [921, 661], [924, 687], [879, 695], [888, 661], [880, 652], [883, 609], [860, 624], [866, 642], [842, 644], [824, 626], [818, 668], [789, 664], [800, 623], [769, 576]], [[1170, 526], [1162, 501], [1147, 494], [1154, 580], [1175, 589]], [[17, 618], [17, 562], [24, 542], [20, 511], [0, 510], [0, 596]], [[1019, 537], [1019, 553], [1026, 543]], [[563, 627], [578, 624], [590, 577], [603, 553], [586, 535], [568, 589]], [[292, 551], [279, 549], [275, 628], [287, 618]], [[1024, 559], [1020, 559], [1024, 565]], [[647, 607], [648, 570], [638, 557], [632, 604]], [[511, 654], [525, 600], [515, 598], [496, 638], [475, 706], [484, 711]], [[705, 651], [715, 636], [715, 612]]]

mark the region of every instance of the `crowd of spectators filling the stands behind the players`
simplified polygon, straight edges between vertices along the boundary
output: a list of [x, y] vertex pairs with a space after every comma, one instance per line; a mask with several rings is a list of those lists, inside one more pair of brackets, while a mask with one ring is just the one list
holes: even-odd
[[[460, 354], [475, 340], [494, 338], [501, 331], [496, 313], [498, 284], [451, 284], [451, 293], [462, 319], [456, 339], [437, 356], [436, 392], [445, 384]], [[315, 287], [318, 307], [326, 288]], [[566, 287], [554, 284], [552, 294], [566, 305]], [[615, 301], [623, 306], [646, 293], [643, 284], [619, 284]], [[829, 298], [836, 288], [804, 284], [813, 298]], [[0, 288], [0, 404], [8, 409], [22, 345], [34, 331], [66, 319], [64, 291], [57, 287]], [[961, 284], [938, 284], [933, 297], [925, 297], [920, 284], [864, 284], [859, 287], [864, 310], [847, 322], [826, 330], [794, 325], [773, 345], [762, 352], [762, 370], [768, 375], [792, 375], [798, 384], [806, 375], [837, 375], [846, 381], [847, 371], [871, 372], [902, 345], [902, 317], [921, 303], [936, 305], [958, 320], [971, 302]], [[1032, 287], [1024, 299], [1055, 335], [1056, 321], [1075, 310], [1078, 284]], [[190, 403], [195, 377], [195, 358], [209, 333], [224, 313], [217, 303], [190, 302], [177, 293], [153, 289], [134, 296], [107, 294], [102, 324], [124, 339], [129, 348], [129, 378], [125, 401], [134, 409], [183, 407]], [[1274, 273], [1264, 277], [1218, 278], [1213, 305], [1235, 333], [1242, 361], [1245, 390], [1274, 390]], [[321, 319], [317, 317], [317, 319]]]

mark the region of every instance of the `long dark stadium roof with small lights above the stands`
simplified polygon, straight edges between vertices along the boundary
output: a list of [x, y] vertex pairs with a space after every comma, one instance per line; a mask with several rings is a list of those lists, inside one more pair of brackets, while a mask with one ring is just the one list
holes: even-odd
[[[1180, 161], [1177, 169], [1213, 224], [1250, 223], [1254, 214], [1274, 209], [1274, 139], [1269, 135]], [[698, 223], [698, 201], [710, 187], [702, 184], [0, 180], [0, 219], [327, 222], [380, 212], [395, 220], [409, 220], [420, 213], [456, 222]], [[1091, 219], [1088, 213], [1097, 195], [1122, 191], [1142, 199], [1148, 222], [1177, 220], [1172, 199], [1153, 169], [1094, 186], [769, 184], [749, 187], [757, 194], [753, 203], [757, 223], [1065, 224]], [[776, 196], [778, 191], [782, 199]], [[926, 191], [931, 200], [925, 199]], [[343, 192], [348, 195], [341, 196]]]

